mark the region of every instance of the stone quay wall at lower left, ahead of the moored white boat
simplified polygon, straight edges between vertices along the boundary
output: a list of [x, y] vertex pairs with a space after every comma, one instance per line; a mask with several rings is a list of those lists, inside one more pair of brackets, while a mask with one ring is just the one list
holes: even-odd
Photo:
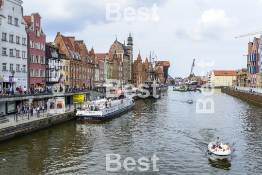
[[[64, 123], [69, 120], [76, 119], [76, 112], [66, 112], [63, 114], [56, 114], [49, 117], [40, 117], [33, 121], [18, 121], [14, 126], [8, 126], [0, 129], [0, 142], [16, 138], [18, 136], [26, 135], [34, 131], [38, 131], [47, 127], [54, 126], [59, 123]], [[21, 123], [21, 124], [19, 124]]]

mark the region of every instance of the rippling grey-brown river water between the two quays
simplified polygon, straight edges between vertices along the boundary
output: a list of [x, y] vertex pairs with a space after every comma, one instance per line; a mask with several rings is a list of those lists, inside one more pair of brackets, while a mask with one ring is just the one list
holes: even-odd
[[[0, 162], [0, 175], [261, 174], [261, 106], [220, 89], [207, 94], [169, 87], [160, 99], [138, 99], [131, 111], [106, 122], [73, 120], [2, 142], [0, 159], [6, 163]], [[214, 101], [214, 113], [197, 113], [196, 103], [186, 103], [208, 97]], [[227, 160], [207, 154], [208, 143], [217, 136], [232, 151]], [[119, 171], [106, 171], [106, 154], [121, 156]], [[153, 170], [155, 154], [159, 171]], [[136, 161], [131, 172], [123, 166], [127, 157]], [[140, 157], [149, 159], [148, 171], [138, 169]]]

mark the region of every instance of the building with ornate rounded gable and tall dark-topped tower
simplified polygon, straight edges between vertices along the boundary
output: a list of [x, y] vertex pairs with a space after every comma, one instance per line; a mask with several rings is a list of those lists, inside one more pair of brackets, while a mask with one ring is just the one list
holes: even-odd
[[131, 33], [128, 36], [127, 46], [117, 41], [115, 37], [115, 42], [111, 45], [109, 53], [116, 53], [116, 57], [123, 63], [122, 78], [120, 83], [130, 83], [131, 84], [131, 65], [133, 63], [133, 37]]

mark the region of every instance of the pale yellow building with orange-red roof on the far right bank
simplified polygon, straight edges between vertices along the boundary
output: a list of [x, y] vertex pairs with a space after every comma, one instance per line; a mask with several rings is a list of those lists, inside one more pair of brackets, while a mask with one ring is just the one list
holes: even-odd
[[231, 86], [236, 80], [236, 70], [212, 70], [211, 85], [213, 87]]

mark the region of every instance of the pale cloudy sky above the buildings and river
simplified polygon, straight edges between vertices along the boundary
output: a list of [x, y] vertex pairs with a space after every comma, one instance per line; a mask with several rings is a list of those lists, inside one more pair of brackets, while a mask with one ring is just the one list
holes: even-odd
[[[127, 44], [131, 32], [133, 58], [140, 52], [145, 61], [154, 50], [158, 61], [170, 62], [173, 78], [188, 77], [194, 59], [197, 76], [246, 68], [252, 36], [235, 36], [262, 28], [262, 0], [23, 1], [24, 15], [37, 12], [42, 17], [47, 42], [60, 32], [84, 40], [89, 51], [93, 47], [95, 53], [107, 53], [115, 37]], [[201, 61], [213, 64], [201, 67]]]

